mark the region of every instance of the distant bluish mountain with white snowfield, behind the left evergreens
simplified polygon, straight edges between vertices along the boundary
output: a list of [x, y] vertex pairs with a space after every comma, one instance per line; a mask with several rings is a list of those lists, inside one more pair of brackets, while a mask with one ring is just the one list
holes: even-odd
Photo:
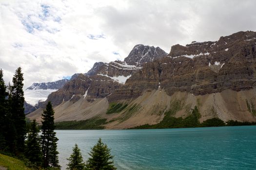
[[50, 93], [57, 91], [68, 81], [67, 79], [62, 79], [48, 83], [33, 83], [24, 91], [26, 104], [35, 106], [38, 102], [45, 101]]

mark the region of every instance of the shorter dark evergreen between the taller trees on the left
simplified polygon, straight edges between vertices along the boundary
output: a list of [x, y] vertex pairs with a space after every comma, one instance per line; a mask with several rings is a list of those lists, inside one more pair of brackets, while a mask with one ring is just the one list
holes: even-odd
[[29, 161], [37, 166], [42, 163], [42, 152], [40, 148], [40, 138], [39, 129], [34, 119], [30, 125], [30, 130], [28, 132], [28, 138], [25, 142], [25, 156]]

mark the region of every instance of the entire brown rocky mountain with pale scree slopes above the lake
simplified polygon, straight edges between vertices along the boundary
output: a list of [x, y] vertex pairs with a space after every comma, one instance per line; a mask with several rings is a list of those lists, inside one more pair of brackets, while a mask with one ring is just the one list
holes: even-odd
[[[169, 113], [186, 118], [197, 106], [200, 122], [256, 121], [256, 32], [177, 44], [158, 58], [148, 52], [152, 61], [137, 46], [123, 62], [97, 64], [49, 95], [55, 120], [107, 119], [106, 128], [122, 129], [157, 124]], [[39, 121], [41, 113], [28, 117]]]

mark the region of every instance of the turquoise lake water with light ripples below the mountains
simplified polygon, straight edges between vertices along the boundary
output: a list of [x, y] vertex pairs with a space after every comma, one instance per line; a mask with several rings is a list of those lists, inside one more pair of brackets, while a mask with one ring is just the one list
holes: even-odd
[[56, 132], [63, 170], [75, 143], [85, 161], [99, 137], [118, 170], [256, 170], [256, 126]]

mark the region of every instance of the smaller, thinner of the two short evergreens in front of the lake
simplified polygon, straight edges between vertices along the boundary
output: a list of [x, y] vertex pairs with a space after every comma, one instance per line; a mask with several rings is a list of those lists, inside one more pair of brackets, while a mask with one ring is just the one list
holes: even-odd
[[73, 153], [67, 160], [69, 161], [67, 170], [84, 170], [85, 164], [83, 163], [82, 154], [77, 144], [75, 144]]

